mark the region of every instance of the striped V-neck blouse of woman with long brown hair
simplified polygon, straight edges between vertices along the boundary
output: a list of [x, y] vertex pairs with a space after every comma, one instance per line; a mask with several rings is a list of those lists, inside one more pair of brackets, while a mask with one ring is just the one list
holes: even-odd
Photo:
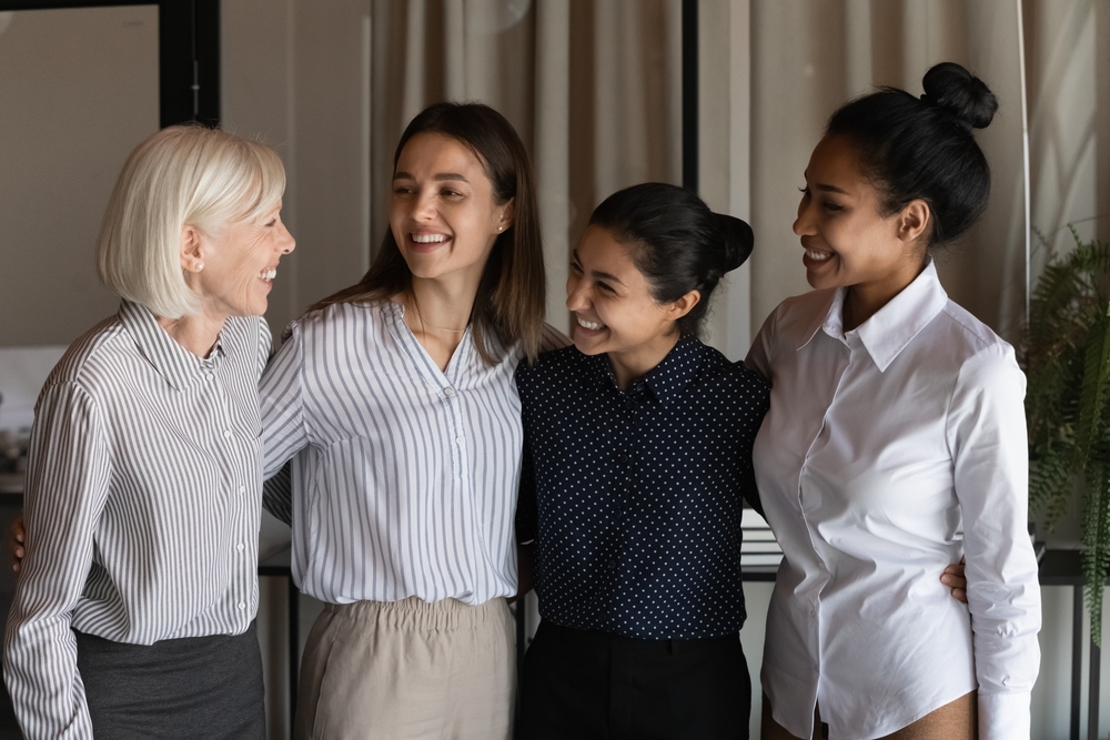
[[[290, 324], [262, 378], [265, 475], [290, 457], [293, 576], [323, 601], [476, 605], [516, 594], [521, 357], [471, 330], [440, 371], [404, 307], [335, 304]], [[294, 457], [295, 455], [295, 457]]]

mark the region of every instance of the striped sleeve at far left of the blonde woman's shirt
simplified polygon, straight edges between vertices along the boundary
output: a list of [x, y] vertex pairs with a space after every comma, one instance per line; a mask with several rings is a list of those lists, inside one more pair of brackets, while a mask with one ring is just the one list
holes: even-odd
[[108, 498], [105, 439], [83, 389], [64, 383], [43, 391], [27, 473], [27, 557], [4, 646], [4, 679], [28, 740], [92, 738], [70, 622]]

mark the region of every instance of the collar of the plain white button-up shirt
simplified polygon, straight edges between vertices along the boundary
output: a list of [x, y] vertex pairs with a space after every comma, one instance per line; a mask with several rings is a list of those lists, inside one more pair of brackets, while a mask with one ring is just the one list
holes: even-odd
[[[844, 339], [844, 295], [842, 287], [829, 294], [828, 310], [824, 314], [818, 312], [814, 324], [803, 335], [799, 349], [813, 339], [818, 328], [824, 328], [836, 339]], [[946, 303], [948, 294], [937, 277], [936, 264], [929, 260], [912, 283], [855, 330], [880, 373], [928, 326]]]

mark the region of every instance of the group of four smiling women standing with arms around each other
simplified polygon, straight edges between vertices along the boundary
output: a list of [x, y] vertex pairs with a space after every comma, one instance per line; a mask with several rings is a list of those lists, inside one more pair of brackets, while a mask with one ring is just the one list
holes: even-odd
[[764, 738], [1029, 737], [1023, 378], [929, 257], [985, 207], [996, 103], [950, 63], [925, 90], [830, 120], [795, 222], [817, 290], [746, 363], [698, 339], [746, 224], [672, 185], [609, 196], [564, 346], [524, 146], [441, 103], [402, 135], [370, 272], [266, 365], [276, 156], [191, 126], [141, 144], [98, 247], [120, 312], [32, 433], [4, 649], [24, 734], [264, 737], [264, 505], [326, 605], [296, 738], [512, 737], [507, 600], [533, 569], [518, 737], [746, 738], [746, 499], [785, 554]]

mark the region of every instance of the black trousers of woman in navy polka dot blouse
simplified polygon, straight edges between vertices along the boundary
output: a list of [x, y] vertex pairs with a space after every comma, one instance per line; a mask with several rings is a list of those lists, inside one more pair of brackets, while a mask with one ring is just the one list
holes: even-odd
[[519, 740], [747, 740], [738, 635], [638, 640], [539, 622], [524, 657]]

